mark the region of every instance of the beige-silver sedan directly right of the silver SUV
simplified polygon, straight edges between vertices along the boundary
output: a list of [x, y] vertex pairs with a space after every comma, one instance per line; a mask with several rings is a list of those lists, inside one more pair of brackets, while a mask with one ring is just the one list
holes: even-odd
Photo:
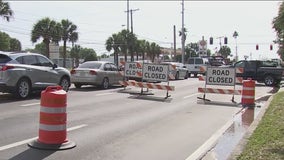
[[81, 88], [82, 85], [94, 85], [107, 89], [123, 80], [118, 67], [107, 61], [87, 61], [70, 72], [71, 83], [76, 88]]

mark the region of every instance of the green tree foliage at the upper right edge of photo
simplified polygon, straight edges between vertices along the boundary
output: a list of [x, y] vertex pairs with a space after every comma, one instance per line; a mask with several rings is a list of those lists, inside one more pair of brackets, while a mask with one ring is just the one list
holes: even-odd
[[277, 53], [281, 56], [281, 59], [284, 60], [284, 2], [281, 3], [278, 9], [278, 15], [272, 21], [272, 27], [277, 34], [277, 38], [274, 41], [279, 45]]

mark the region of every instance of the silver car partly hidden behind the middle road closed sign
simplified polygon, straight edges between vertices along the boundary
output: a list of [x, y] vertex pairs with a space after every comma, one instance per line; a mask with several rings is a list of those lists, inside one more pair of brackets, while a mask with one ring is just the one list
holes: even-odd
[[162, 62], [161, 64], [169, 64], [174, 66], [175, 69], [170, 70], [170, 72], [175, 77], [176, 80], [188, 78], [189, 71], [184, 64], [179, 62]]

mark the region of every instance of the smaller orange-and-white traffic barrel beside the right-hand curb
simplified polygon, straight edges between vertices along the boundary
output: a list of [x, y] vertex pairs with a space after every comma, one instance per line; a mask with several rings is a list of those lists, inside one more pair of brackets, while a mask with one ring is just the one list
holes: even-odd
[[242, 105], [244, 107], [255, 106], [255, 81], [244, 80], [242, 90]]

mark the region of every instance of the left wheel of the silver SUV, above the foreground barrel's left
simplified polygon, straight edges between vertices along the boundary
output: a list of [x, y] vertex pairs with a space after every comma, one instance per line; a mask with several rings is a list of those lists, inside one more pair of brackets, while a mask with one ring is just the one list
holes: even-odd
[[20, 79], [16, 86], [16, 91], [15, 91], [16, 96], [25, 99], [30, 95], [30, 92], [31, 92], [30, 81], [26, 78]]

